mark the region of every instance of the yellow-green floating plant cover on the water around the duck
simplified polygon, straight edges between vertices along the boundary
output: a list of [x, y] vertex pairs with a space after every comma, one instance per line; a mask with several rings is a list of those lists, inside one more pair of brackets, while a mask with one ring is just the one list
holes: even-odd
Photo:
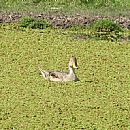
[[[74, 40], [72, 30], [0, 29], [0, 129], [130, 129], [130, 44]], [[79, 82], [44, 80], [78, 58]]]

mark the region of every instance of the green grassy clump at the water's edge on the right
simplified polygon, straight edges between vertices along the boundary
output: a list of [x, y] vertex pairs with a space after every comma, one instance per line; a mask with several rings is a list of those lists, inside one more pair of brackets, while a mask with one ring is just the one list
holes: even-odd
[[97, 20], [91, 25], [91, 33], [93, 37], [102, 40], [115, 41], [122, 37], [123, 27], [112, 20]]

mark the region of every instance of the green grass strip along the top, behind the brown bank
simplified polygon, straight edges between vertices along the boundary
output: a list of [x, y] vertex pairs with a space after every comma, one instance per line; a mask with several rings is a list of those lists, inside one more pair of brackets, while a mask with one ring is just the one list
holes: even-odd
[[103, 16], [129, 16], [129, 0], [0, 0], [6, 12], [64, 13]]

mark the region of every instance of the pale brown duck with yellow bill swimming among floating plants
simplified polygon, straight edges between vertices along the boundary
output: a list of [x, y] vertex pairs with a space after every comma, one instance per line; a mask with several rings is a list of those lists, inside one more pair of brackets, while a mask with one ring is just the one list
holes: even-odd
[[77, 58], [71, 56], [68, 64], [69, 72], [62, 71], [46, 71], [42, 70], [40, 67], [39, 71], [44, 79], [49, 81], [59, 81], [59, 82], [68, 82], [68, 81], [79, 81], [76, 76], [75, 69], [78, 69]]

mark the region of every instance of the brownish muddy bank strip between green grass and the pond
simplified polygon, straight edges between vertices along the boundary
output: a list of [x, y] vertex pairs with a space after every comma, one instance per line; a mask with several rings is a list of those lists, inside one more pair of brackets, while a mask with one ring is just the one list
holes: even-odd
[[88, 16], [88, 15], [64, 15], [64, 14], [52, 14], [52, 13], [4, 13], [0, 12], [0, 23], [14, 23], [19, 22], [19, 20], [24, 16], [31, 16], [38, 19], [48, 19], [52, 22], [53, 27], [58, 28], [69, 28], [73, 25], [85, 25], [88, 26], [92, 22], [98, 19], [111, 19], [119, 23], [121, 26], [130, 29], [130, 18], [125, 16], [117, 17], [104, 17], [104, 16]]

